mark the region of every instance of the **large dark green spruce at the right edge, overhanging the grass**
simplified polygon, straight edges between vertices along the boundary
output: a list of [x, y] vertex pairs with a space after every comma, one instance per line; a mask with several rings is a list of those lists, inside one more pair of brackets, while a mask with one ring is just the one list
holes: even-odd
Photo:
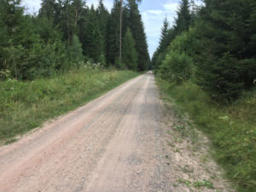
[[227, 0], [206, 1], [206, 5], [196, 26], [203, 46], [197, 49], [195, 78], [214, 99], [234, 101], [242, 90], [253, 87], [256, 75], [253, 52], [256, 3]]

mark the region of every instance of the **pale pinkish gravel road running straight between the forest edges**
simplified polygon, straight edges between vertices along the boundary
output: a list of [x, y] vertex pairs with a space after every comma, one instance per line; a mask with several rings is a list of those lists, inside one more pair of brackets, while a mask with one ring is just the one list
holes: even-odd
[[0, 148], [0, 191], [179, 191], [160, 113], [153, 74], [132, 79]]

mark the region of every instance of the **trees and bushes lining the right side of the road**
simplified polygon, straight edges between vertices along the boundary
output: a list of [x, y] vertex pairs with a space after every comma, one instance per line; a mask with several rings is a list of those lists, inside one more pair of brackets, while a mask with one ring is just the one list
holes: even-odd
[[256, 83], [255, 0], [182, 0], [152, 62], [162, 79], [192, 79], [213, 99], [234, 101]]

